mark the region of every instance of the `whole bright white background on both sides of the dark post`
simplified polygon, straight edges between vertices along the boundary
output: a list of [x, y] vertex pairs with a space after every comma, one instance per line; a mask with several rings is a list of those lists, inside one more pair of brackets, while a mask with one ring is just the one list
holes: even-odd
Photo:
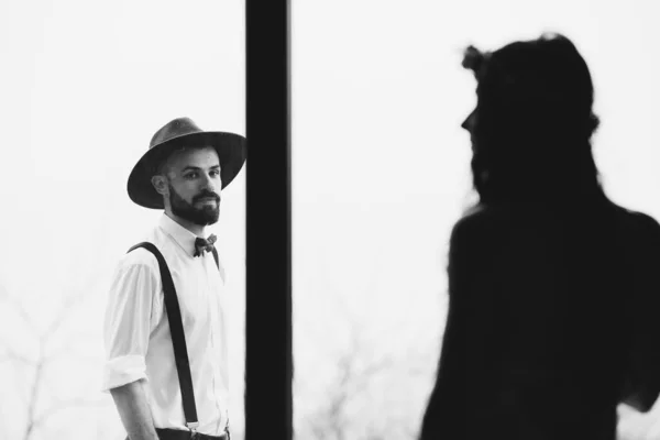
[[[594, 78], [606, 190], [660, 218], [653, 2], [292, 3], [297, 438], [411, 438], [440, 349], [449, 231], [473, 200], [459, 125], [474, 80], [461, 50], [542, 31], [572, 38]], [[26, 438], [30, 410], [53, 408], [31, 439], [122, 438], [98, 392], [106, 290], [158, 216], [131, 204], [125, 179], [173, 118], [244, 133], [243, 8], [0, 2], [0, 438]], [[244, 196], [242, 174], [216, 228], [233, 298], [237, 433]], [[623, 431], [652, 438], [651, 419], [626, 416]]]

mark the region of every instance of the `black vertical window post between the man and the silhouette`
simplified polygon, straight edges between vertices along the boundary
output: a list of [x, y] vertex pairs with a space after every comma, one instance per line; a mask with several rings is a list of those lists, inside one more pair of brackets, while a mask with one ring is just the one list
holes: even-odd
[[293, 438], [289, 1], [245, 0], [245, 439]]

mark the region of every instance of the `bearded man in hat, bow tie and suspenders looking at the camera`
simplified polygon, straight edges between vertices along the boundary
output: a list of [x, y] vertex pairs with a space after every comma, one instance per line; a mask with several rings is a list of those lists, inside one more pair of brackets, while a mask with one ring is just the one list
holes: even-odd
[[245, 155], [244, 138], [179, 118], [131, 172], [131, 200], [164, 210], [121, 258], [103, 324], [103, 389], [131, 440], [229, 439], [224, 275], [207, 227]]

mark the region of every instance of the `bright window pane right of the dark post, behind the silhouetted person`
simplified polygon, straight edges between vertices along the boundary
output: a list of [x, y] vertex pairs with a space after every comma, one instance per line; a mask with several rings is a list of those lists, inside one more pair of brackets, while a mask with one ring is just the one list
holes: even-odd
[[475, 200], [460, 128], [475, 105], [461, 67], [468, 44], [572, 38], [595, 80], [606, 190], [658, 218], [660, 90], [647, 54], [660, 35], [649, 2], [627, 4], [293, 2], [297, 438], [413, 439], [419, 429], [444, 326], [449, 234]]

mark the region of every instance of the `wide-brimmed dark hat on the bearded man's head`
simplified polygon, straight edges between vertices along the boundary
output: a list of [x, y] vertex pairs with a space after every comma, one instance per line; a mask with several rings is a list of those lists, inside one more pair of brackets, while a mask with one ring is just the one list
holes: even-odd
[[145, 208], [163, 209], [163, 196], [152, 185], [158, 166], [176, 148], [212, 146], [220, 158], [220, 177], [224, 189], [239, 174], [246, 157], [245, 138], [227, 132], [204, 131], [189, 118], [177, 118], [154, 134], [148, 150], [129, 176], [129, 197]]

